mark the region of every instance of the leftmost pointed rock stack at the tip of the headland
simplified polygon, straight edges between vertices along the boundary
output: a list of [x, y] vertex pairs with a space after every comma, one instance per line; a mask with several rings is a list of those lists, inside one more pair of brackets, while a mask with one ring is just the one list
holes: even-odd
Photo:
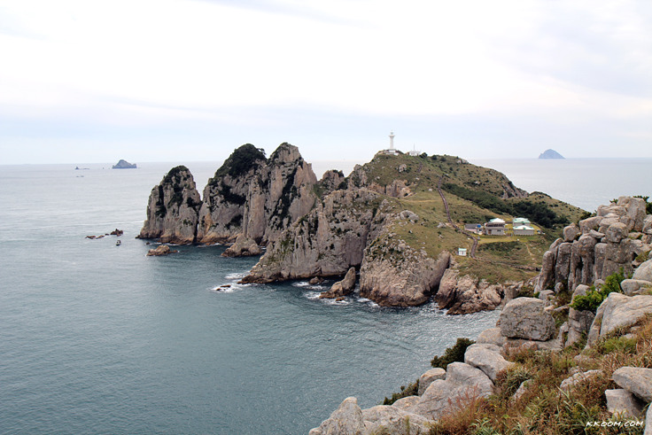
[[194, 243], [199, 206], [199, 192], [190, 171], [184, 166], [173, 167], [151, 190], [147, 220], [137, 237], [180, 245]]

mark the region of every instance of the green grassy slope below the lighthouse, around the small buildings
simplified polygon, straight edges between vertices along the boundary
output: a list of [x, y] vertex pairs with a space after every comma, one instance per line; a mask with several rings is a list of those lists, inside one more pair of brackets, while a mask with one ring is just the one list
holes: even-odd
[[[363, 183], [361, 171], [366, 176]], [[493, 283], [524, 280], [537, 275], [541, 256], [561, 234], [563, 226], [578, 221], [584, 211], [576, 206], [535, 192], [518, 190], [507, 176], [478, 167], [454, 156], [389, 156], [376, 154], [361, 171], [353, 171], [347, 182], [354, 186], [379, 186], [404, 181], [412, 194], [395, 199], [397, 212], [411, 210], [420, 219], [396, 226], [394, 232], [415, 249], [425, 249], [431, 257], [458, 247], [470, 250], [473, 240], [447, 224], [446, 211], [437, 190], [441, 179], [451, 219], [464, 223], [484, 223], [494, 217], [511, 221], [527, 217], [541, 233], [534, 236], [480, 237], [477, 260], [456, 256], [462, 273], [484, 277]], [[393, 201], [392, 201], [393, 202]], [[508, 229], [511, 226], [508, 225]], [[527, 269], [527, 268], [531, 269]]]

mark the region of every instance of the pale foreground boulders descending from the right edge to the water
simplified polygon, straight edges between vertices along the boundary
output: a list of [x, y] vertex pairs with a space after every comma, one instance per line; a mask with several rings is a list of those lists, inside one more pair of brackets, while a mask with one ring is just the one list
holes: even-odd
[[[630, 358], [640, 364], [632, 367], [625, 365], [625, 358], [613, 359], [608, 353], [604, 359], [609, 364], [601, 369], [596, 362], [600, 352], [610, 349], [605, 343], [614, 340], [631, 343], [646, 339], [645, 346], [634, 347], [634, 356], [652, 350], [649, 333], [640, 332], [641, 328], [652, 328], [652, 215], [646, 214], [646, 201], [619, 198], [609, 206], [599, 207], [596, 216], [567, 227], [563, 233], [563, 239], [556, 240], [544, 254], [544, 268], [534, 293], [538, 297], [510, 300], [496, 327], [477, 337], [477, 343], [466, 349], [463, 361], [424, 373], [418, 381], [418, 392], [392, 405], [361, 409], [357, 400], [349, 397], [310, 434], [448, 433], [434, 431], [446, 416], [457, 418], [465, 403], [470, 406], [503, 393], [506, 377], [522, 370], [522, 360], [515, 355], [541, 353], [544, 360], [551, 360], [562, 355], [564, 349], [578, 345], [582, 347], [571, 361], [573, 369], [567, 370], [570, 376], [563, 378], [559, 391], [572, 394], [594, 379], [602, 379], [601, 385], [612, 388], [598, 391], [606, 405], [595, 412], [615, 416], [617, 421], [644, 419], [647, 405], [645, 433], [652, 433], [652, 359]], [[632, 277], [620, 281], [617, 290], [606, 295], [595, 313], [573, 308], [587, 291], [594, 291], [589, 284], [598, 290], [609, 285], [611, 278], [605, 274], [617, 272], [615, 268]], [[570, 301], [564, 299], [569, 292]], [[598, 369], [591, 369], [595, 366]], [[532, 386], [536, 374], [530, 375], [531, 380], [516, 385], [508, 400], [516, 403], [536, 396], [536, 387]], [[548, 424], [554, 426], [555, 422]]]

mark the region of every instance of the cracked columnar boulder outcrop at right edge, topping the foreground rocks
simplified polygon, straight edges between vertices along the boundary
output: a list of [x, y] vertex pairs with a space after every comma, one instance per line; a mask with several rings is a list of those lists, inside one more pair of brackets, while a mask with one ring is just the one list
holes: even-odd
[[[577, 238], [578, 237], [578, 238]], [[633, 271], [634, 260], [652, 249], [652, 216], [646, 216], [641, 198], [621, 197], [599, 206], [597, 215], [564, 229], [543, 255], [536, 290], [570, 291], [579, 284], [593, 284], [620, 269]]]

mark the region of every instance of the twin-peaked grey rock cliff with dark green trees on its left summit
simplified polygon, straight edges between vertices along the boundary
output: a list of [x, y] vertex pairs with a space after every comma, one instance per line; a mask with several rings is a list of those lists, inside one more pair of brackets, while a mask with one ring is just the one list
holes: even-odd
[[239, 234], [267, 245], [314, 206], [312, 167], [291, 144], [265, 159], [245, 144], [209, 180], [199, 212], [198, 243], [230, 243]]

